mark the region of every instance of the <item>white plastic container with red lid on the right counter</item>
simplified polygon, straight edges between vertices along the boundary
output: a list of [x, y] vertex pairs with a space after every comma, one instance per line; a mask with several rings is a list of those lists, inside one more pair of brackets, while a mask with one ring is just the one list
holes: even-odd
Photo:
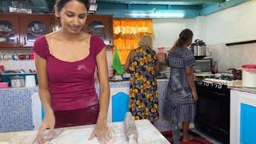
[[256, 87], [256, 65], [242, 66], [242, 86]]

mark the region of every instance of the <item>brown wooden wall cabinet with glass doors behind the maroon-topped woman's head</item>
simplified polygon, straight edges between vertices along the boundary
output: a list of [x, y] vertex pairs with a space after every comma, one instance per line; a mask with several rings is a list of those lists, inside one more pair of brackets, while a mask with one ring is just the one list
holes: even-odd
[[[112, 18], [112, 15], [88, 15], [83, 30], [102, 38], [107, 48], [111, 48]], [[0, 14], [0, 48], [32, 47], [36, 38], [59, 28], [54, 14]]]

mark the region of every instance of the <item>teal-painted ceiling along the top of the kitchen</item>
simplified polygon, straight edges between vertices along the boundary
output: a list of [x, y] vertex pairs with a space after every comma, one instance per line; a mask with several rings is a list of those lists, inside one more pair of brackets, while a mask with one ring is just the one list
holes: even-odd
[[[54, 0], [31, 1], [43, 11], [51, 11], [54, 6]], [[175, 18], [171, 14], [183, 14], [183, 18], [196, 18], [247, 1], [250, 0], [96, 0], [96, 14], [113, 14], [114, 18]]]

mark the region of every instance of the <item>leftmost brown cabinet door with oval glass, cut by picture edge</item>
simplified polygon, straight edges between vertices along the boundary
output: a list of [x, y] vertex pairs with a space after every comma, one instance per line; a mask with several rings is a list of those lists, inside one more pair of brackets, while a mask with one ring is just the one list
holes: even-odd
[[17, 14], [0, 14], [0, 48], [19, 47]]

